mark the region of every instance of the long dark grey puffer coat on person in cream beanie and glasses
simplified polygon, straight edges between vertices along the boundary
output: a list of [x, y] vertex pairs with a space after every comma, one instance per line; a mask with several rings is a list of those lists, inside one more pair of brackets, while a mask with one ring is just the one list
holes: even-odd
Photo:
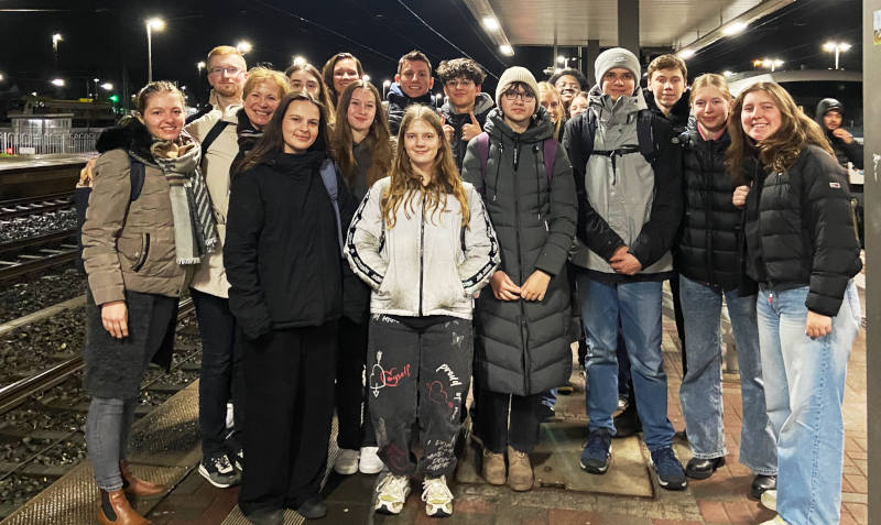
[[566, 259], [577, 219], [575, 179], [562, 146], [553, 176], [545, 175], [543, 143], [553, 123], [544, 108], [523, 133], [493, 109], [483, 131], [490, 136], [486, 174], [474, 139], [463, 178], [483, 195], [501, 247], [499, 269], [518, 285], [536, 270], [552, 278], [542, 302], [498, 300], [489, 286], [480, 294], [474, 374], [491, 392], [537, 394], [563, 384], [572, 370]]

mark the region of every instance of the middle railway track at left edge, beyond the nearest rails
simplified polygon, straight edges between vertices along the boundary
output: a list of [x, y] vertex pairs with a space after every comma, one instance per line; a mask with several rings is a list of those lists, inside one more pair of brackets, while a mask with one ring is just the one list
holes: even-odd
[[76, 229], [0, 244], [0, 282], [69, 264], [78, 256]]

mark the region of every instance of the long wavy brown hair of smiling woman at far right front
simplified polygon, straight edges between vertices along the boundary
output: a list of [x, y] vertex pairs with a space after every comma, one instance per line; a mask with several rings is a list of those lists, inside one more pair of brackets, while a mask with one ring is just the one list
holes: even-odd
[[[759, 90], [766, 92], [776, 105], [780, 128], [768, 139], [755, 142], [743, 131], [740, 113], [743, 111], [743, 99], [747, 95]], [[738, 95], [728, 118], [728, 134], [731, 136], [731, 145], [725, 152], [725, 163], [728, 174], [739, 184], [747, 182], [743, 163], [748, 157], [758, 157], [768, 171], [783, 172], [795, 164], [807, 144], [823, 147], [835, 156], [819, 125], [807, 118], [792, 96], [776, 83], [755, 83]]]

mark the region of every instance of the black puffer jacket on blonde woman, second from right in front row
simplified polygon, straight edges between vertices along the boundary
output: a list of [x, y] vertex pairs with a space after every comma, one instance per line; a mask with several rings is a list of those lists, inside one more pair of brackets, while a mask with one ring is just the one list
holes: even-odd
[[681, 135], [685, 215], [673, 252], [674, 269], [692, 281], [729, 291], [741, 284], [743, 212], [731, 204], [737, 184], [725, 171], [728, 131], [705, 141], [696, 127]]

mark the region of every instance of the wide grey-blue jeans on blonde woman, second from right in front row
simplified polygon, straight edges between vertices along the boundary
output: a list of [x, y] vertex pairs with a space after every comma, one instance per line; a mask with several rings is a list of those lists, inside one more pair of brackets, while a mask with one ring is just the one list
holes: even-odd
[[695, 458], [711, 459], [728, 453], [722, 427], [721, 337], [719, 317], [722, 295], [737, 343], [743, 424], [740, 427], [740, 462], [757, 474], [775, 475], [777, 449], [764, 405], [755, 296], [741, 297], [737, 289], [690, 281], [679, 274], [679, 294], [685, 320], [688, 371], [679, 400]]

